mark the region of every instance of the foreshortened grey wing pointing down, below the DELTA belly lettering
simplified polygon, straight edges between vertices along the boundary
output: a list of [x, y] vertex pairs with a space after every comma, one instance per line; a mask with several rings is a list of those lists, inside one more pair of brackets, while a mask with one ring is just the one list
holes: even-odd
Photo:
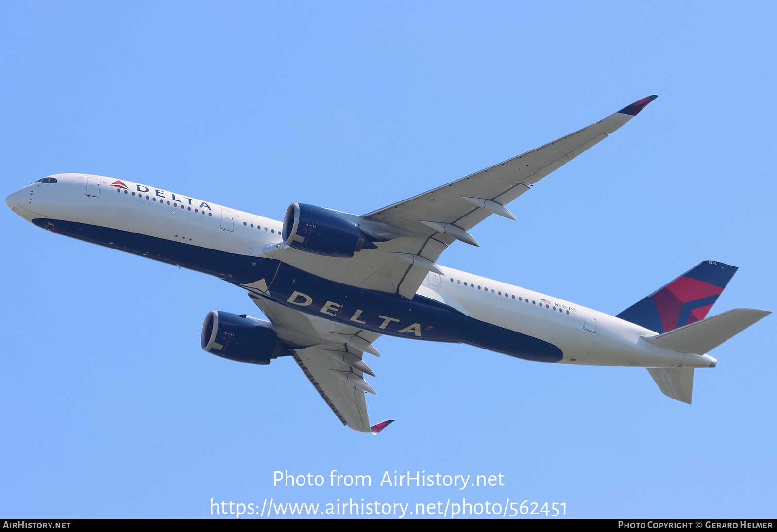
[[375, 394], [364, 374], [375, 373], [362, 356], [365, 351], [379, 356], [372, 342], [380, 335], [305, 315], [251, 292], [249, 297], [273, 323], [278, 338], [294, 346], [294, 360], [340, 422], [377, 433], [371, 430], [364, 401], [365, 391]]

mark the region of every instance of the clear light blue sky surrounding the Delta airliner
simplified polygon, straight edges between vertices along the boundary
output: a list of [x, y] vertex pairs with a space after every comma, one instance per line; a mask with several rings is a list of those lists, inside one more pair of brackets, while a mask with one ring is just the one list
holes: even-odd
[[[768, 2], [3, 2], [0, 183], [85, 172], [276, 219], [293, 202], [363, 214], [658, 93], [440, 263], [617, 314], [713, 259], [740, 266], [713, 314], [774, 310], [774, 19]], [[692, 406], [645, 370], [382, 338], [368, 407], [397, 422], [365, 436], [292, 360], [200, 349], [208, 311], [262, 317], [238, 288], [8, 209], [0, 224], [2, 516], [462, 497], [775, 515], [773, 317], [713, 351]], [[329, 487], [334, 469], [373, 485]], [[327, 485], [273, 486], [285, 470]]]

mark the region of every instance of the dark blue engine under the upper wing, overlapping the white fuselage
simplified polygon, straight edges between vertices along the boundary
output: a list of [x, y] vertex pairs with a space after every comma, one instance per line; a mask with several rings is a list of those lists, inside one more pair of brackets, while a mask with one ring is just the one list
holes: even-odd
[[291, 203], [284, 217], [284, 243], [314, 255], [352, 257], [377, 247], [359, 224], [334, 210]]

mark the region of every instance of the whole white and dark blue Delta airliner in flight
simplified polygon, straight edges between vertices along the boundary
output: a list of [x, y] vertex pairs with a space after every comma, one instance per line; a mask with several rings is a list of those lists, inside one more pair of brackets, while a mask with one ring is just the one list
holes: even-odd
[[657, 95], [488, 169], [368, 214], [292, 203], [283, 221], [127, 179], [47, 176], [5, 203], [47, 231], [217, 276], [247, 290], [269, 321], [207, 314], [207, 353], [268, 364], [291, 356], [343, 425], [377, 434], [364, 354], [382, 335], [455, 342], [525, 360], [645, 367], [691, 403], [695, 368], [769, 311], [706, 315], [736, 273], [706, 260], [616, 316], [437, 264], [470, 230], [636, 116]]

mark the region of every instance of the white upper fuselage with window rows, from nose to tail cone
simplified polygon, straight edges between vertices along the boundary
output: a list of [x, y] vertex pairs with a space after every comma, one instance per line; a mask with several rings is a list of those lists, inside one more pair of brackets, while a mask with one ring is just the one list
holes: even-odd
[[[57, 221], [67, 221], [257, 259], [263, 258], [267, 245], [281, 242], [281, 222], [257, 214], [124, 179], [83, 174], [51, 177], [57, 183], [33, 183], [12, 193], [6, 203], [27, 221], [55, 232]], [[123, 249], [109, 237], [104, 238], [105, 242], [99, 238], [84, 239]], [[126, 246], [124, 250], [129, 251]], [[715, 363], [711, 356], [653, 346], [641, 336], [655, 336], [657, 332], [614, 316], [472, 273], [439, 268], [443, 275], [430, 273], [418, 289], [418, 295], [478, 322], [557, 346], [563, 352], [559, 362], [664, 368], [711, 367]], [[226, 280], [232, 277], [210, 270], [207, 273]], [[322, 308], [318, 315], [329, 318], [325, 310]], [[418, 339], [414, 332], [414, 329], [406, 332], [400, 329], [394, 333]]]

